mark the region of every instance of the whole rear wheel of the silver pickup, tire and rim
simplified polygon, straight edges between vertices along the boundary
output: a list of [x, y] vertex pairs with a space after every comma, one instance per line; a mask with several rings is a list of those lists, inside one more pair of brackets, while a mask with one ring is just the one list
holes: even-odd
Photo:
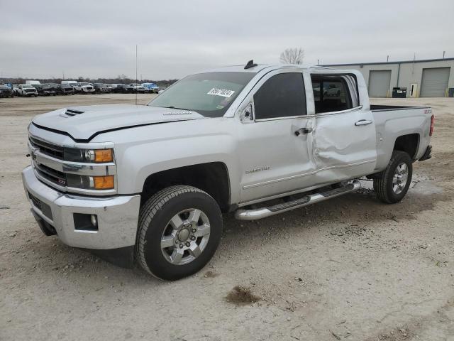
[[374, 179], [378, 199], [387, 204], [401, 201], [411, 184], [413, 163], [408, 153], [393, 151], [391, 160], [380, 178]]

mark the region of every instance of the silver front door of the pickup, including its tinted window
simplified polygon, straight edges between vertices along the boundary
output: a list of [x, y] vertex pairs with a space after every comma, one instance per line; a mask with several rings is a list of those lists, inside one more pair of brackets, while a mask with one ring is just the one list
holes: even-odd
[[301, 71], [277, 70], [263, 77], [246, 98], [253, 116], [243, 115], [238, 128], [240, 202], [260, 201], [312, 184], [315, 122], [306, 114], [305, 89]]

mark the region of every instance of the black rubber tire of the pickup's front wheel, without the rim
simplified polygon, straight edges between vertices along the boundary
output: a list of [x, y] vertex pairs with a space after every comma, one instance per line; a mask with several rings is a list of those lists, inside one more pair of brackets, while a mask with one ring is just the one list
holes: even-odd
[[[172, 264], [161, 249], [161, 238], [172, 217], [189, 209], [201, 210], [208, 218], [209, 239], [195, 259], [183, 265]], [[135, 259], [149, 274], [175, 281], [195, 274], [208, 263], [221, 241], [221, 234], [221, 210], [213, 197], [192, 186], [171, 186], [150, 197], [140, 209]]]

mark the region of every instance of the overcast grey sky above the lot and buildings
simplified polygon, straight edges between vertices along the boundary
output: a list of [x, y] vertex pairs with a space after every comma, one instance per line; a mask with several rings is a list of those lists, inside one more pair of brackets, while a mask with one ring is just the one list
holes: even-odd
[[304, 64], [454, 58], [454, 1], [0, 0], [0, 77], [179, 78], [285, 48]]

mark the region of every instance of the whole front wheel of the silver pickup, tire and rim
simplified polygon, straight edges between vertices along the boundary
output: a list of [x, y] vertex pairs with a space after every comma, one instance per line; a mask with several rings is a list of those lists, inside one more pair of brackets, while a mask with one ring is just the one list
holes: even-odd
[[213, 197], [192, 186], [171, 186], [140, 209], [135, 258], [153, 276], [175, 281], [208, 263], [221, 234], [221, 210]]

